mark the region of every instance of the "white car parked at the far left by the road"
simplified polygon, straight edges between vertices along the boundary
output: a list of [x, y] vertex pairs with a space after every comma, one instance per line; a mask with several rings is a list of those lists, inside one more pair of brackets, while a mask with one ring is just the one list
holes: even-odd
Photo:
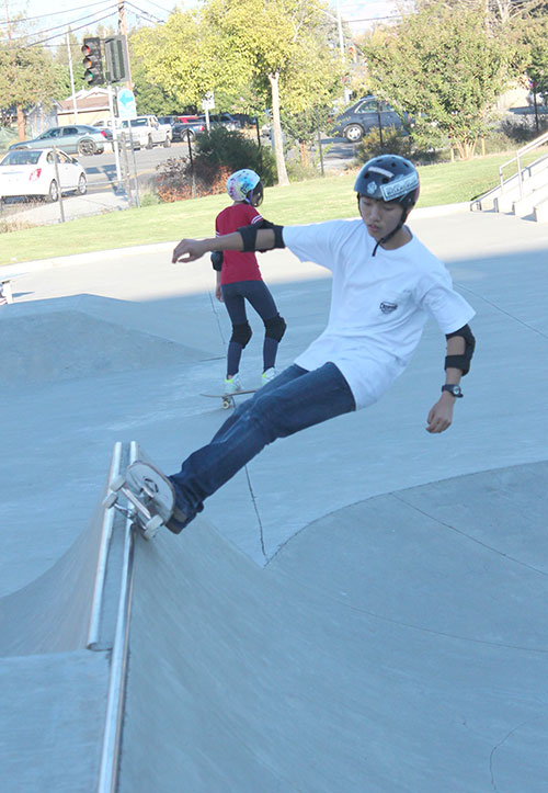
[[59, 193], [88, 191], [85, 171], [70, 155], [57, 149], [12, 149], [0, 162], [0, 202], [11, 196], [42, 196], [58, 201]]

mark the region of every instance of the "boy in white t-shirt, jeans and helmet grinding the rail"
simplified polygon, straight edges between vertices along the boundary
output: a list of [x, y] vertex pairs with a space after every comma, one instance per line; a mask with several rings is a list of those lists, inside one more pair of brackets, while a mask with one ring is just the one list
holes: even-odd
[[[333, 285], [327, 328], [295, 363], [242, 403], [178, 474], [153, 471], [175, 500], [165, 516], [171, 531], [184, 529], [266, 444], [379, 399], [411, 360], [429, 317], [447, 337], [447, 356], [426, 430], [450, 426], [473, 353], [468, 322], [475, 311], [454, 291], [444, 264], [404, 225], [419, 196], [414, 166], [395, 155], [375, 157], [354, 189], [359, 218], [285, 227], [263, 220], [220, 237], [183, 239], [174, 249], [173, 262], [191, 262], [210, 251], [287, 247], [330, 270]], [[138, 492], [147, 466], [127, 476]]]

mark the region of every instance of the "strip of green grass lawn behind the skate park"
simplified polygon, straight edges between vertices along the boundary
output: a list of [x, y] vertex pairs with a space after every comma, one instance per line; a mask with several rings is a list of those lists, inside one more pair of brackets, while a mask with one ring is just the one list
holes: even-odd
[[[512, 152], [513, 154], [513, 152]], [[471, 201], [499, 182], [499, 166], [512, 154], [478, 157], [420, 168], [421, 195], [418, 206]], [[537, 149], [529, 159], [539, 156]], [[511, 175], [511, 169], [505, 175]], [[354, 217], [355, 173], [328, 175], [286, 188], [267, 188], [261, 209], [270, 220], [299, 224]], [[70, 220], [55, 226], [9, 231], [0, 235], [0, 265], [48, 259], [107, 248], [167, 242], [183, 237], [206, 237], [214, 233], [215, 216], [228, 203], [226, 195], [161, 204]]]

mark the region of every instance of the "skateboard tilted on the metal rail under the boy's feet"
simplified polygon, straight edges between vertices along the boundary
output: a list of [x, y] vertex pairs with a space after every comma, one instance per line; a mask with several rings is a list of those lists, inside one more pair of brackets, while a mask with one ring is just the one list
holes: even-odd
[[[152, 540], [173, 513], [175, 492], [171, 483], [150, 463], [136, 460], [125, 474], [116, 476], [110, 485], [111, 492], [103, 501], [105, 509], [122, 512], [146, 540]], [[119, 503], [124, 496], [128, 506]]]

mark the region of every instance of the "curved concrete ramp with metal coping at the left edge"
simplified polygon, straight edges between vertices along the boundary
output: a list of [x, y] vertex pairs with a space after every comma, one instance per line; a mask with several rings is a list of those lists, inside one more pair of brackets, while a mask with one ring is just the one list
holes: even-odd
[[[109, 479], [125, 464], [116, 444]], [[111, 790], [105, 736], [129, 535], [121, 516], [105, 513], [104, 491], [67, 553], [0, 599], [2, 793]]]

